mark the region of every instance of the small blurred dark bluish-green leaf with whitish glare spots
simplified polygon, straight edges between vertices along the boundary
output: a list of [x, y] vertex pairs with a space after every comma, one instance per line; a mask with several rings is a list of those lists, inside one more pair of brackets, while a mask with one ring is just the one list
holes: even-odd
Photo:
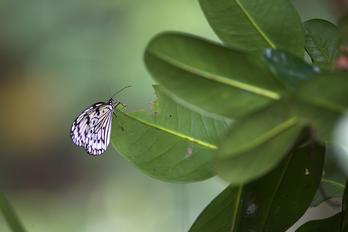
[[279, 77], [280, 82], [291, 90], [295, 90], [304, 80], [320, 72], [318, 67], [279, 49], [267, 48], [263, 53], [263, 60]]

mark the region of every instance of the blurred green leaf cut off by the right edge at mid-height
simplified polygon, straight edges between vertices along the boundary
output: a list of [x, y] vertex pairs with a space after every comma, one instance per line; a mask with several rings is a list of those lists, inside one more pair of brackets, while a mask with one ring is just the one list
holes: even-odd
[[325, 144], [337, 120], [347, 114], [348, 74], [320, 74], [299, 87], [296, 99], [293, 113], [303, 125], [313, 125], [316, 138]]

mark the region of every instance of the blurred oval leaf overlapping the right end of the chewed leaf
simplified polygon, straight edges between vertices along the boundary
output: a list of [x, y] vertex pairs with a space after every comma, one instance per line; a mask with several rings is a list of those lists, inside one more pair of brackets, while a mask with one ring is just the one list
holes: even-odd
[[302, 127], [283, 98], [239, 121], [222, 142], [215, 170], [232, 183], [245, 183], [272, 170], [292, 149]]

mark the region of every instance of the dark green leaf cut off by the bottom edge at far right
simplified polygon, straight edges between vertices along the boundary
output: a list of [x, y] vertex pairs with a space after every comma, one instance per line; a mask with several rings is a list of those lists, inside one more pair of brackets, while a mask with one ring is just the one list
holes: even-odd
[[[342, 231], [347, 232], [348, 219], [344, 217]], [[337, 213], [332, 217], [313, 220], [301, 225], [295, 232], [339, 232], [341, 225], [341, 213]]]

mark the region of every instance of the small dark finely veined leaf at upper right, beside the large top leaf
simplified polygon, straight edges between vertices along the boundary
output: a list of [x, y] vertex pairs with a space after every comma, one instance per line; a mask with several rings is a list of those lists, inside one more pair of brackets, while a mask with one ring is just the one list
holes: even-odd
[[324, 19], [303, 22], [304, 47], [314, 62], [333, 62], [338, 52], [340, 29]]

